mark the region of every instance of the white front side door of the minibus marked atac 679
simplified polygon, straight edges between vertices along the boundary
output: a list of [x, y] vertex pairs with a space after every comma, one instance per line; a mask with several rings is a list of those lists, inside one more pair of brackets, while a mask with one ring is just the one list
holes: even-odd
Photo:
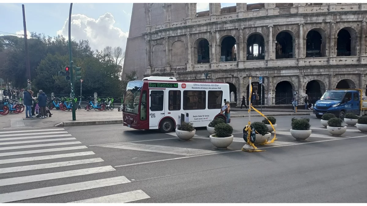
[[150, 90], [149, 127], [156, 127], [166, 115], [164, 111], [164, 90]]

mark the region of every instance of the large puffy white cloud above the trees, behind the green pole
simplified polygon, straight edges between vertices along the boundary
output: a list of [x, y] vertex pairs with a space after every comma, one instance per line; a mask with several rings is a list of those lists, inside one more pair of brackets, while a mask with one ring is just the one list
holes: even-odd
[[[57, 32], [58, 35], [68, 37], [69, 18], [64, 26]], [[86, 15], [72, 15], [71, 36], [75, 40], [88, 40], [92, 49], [102, 50], [106, 46], [118, 47], [123, 50], [126, 47], [128, 32], [123, 32], [120, 28], [113, 26], [115, 20], [109, 12], [98, 19], [90, 18]]]

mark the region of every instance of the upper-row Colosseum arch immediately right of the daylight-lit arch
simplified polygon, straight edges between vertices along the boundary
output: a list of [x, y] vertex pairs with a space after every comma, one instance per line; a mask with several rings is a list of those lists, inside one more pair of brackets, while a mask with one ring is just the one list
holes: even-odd
[[295, 58], [295, 34], [291, 30], [281, 30], [275, 37], [275, 58]]

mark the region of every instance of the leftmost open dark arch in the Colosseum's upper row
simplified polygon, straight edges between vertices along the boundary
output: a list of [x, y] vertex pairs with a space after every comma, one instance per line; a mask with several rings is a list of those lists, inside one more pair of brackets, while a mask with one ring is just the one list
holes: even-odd
[[210, 62], [210, 42], [203, 37], [198, 37], [194, 43], [194, 62], [209, 63]]

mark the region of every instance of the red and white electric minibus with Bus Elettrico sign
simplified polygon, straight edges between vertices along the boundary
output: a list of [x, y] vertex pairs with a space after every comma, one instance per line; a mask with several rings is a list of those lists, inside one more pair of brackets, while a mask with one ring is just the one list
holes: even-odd
[[123, 105], [124, 126], [171, 132], [181, 121], [208, 126], [215, 117], [226, 120], [221, 109], [229, 101], [223, 82], [177, 81], [174, 77], [146, 77], [130, 81]]

